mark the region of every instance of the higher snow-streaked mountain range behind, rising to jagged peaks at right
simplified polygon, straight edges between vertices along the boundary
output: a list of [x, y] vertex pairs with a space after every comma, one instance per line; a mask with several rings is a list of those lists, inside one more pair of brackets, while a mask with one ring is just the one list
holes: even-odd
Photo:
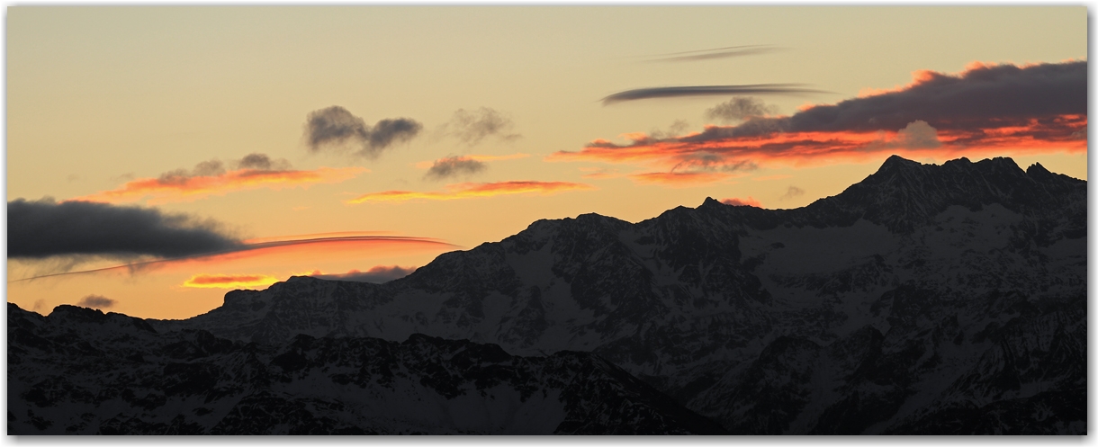
[[[1040, 165], [892, 157], [800, 209], [538, 221], [384, 284], [291, 278], [150, 323], [592, 351], [737, 433], [1085, 433], [1086, 227], [1086, 182]], [[1007, 422], [1035, 402], [1047, 424]]]

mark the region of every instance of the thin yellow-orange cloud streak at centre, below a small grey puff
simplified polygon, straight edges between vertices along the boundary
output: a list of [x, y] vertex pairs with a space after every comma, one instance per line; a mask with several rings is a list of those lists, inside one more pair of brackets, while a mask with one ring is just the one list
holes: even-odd
[[572, 183], [568, 181], [500, 181], [494, 183], [456, 183], [447, 185], [447, 191], [382, 191], [359, 195], [348, 200], [348, 204], [366, 202], [405, 202], [408, 200], [456, 200], [472, 199], [478, 197], [493, 197], [506, 194], [534, 193], [539, 195], [550, 195], [557, 192], [594, 189], [585, 183]]

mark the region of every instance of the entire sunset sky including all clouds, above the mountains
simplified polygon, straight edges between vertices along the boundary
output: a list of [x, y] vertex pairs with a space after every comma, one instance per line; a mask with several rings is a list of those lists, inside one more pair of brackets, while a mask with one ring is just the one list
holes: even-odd
[[1087, 178], [1085, 7], [9, 7], [8, 301], [154, 319], [541, 219]]

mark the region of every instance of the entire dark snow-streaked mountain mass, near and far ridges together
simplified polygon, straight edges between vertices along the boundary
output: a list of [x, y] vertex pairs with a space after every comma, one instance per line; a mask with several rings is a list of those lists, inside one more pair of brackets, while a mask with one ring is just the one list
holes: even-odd
[[[147, 328], [141, 336], [165, 346], [182, 343], [172, 337], [204, 337], [235, 353], [233, 366], [206, 351], [170, 361], [167, 354], [142, 355], [145, 368], [220, 371], [190, 388], [224, 406], [205, 416], [180, 410], [187, 406], [169, 395], [168, 382], [154, 380], [139, 392], [122, 383], [112, 391], [122, 398], [101, 398], [107, 385], [66, 372], [70, 357], [60, 353], [107, 348], [74, 345], [85, 326], [65, 333], [53, 323], [57, 310], [45, 324], [10, 305], [9, 358], [19, 361], [9, 365], [9, 433], [160, 427], [154, 420], [223, 433], [213, 427], [229, 416], [233, 426], [251, 424], [258, 433], [264, 423], [246, 421], [258, 410], [240, 405], [277, 394], [279, 405], [336, 421], [321, 424], [328, 433], [1086, 434], [1086, 181], [1041, 165], [1022, 170], [1009, 158], [961, 158], [937, 166], [893, 156], [842, 193], [799, 209], [707, 199], [636, 224], [597, 214], [544, 220], [383, 284], [294, 277], [264, 291], [229, 292], [222, 306], [192, 319], [134, 319]], [[461, 368], [491, 369], [488, 360], [455, 362], [458, 348], [447, 345], [455, 343], [498, 349], [498, 359], [525, 368], [505, 376], [523, 379], [482, 388], [480, 372]], [[480, 400], [456, 403], [466, 398], [354, 376], [372, 367], [340, 354], [377, 346], [419, 353], [425, 344], [451, 353], [433, 354], [437, 360], [427, 364], [450, 370], [455, 389]], [[296, 357], [284, 360], [291, 369], [272, 369], [292, 349]], [[425, 361], [416, 354], [386, 355], [399, 358], [386, 360], [390, 369], [434, 368], [410, 366]], [[256, 385], [256, 376], [239, 372], [244, 365], [281, 383], [278, 375], [292, 375], [289, 383], [300, 384]], [[332, 372], [339, 368], [350, 370]], [[603, 376], [591, 376], [595, 370]], [[360, 387], [338, 388], [344, 380]], [[557, 383], [568, 381], [589, 391], [565, 399], [572, 385]], [[541, 396], [540, 417], [551, 414], [556, 423], [491, 422], [493, 404], [534, 407], [507, 394], [522, 395], [527, 382], [530, 395]], [[234, 391], [219, 391], [225, 389]], [[489, 399], [485, 390], [512, 398]], [[430, 409], [474, 405], [488, 416], [471, 425], [414, 420], [403, 415], [422, 412], [412, 406], [400, 406], [400, 421], [362, 422], [373, 414], [362, 409], [383, 407], [395, 392], [430, 395], [423, 404]], [[125, 398], [138, 394], [165, 403]], [[142, 410], [125, 410], [134, 405]], [[564, 422], [580, 414], [568, 410], [576, 405], [587, 412], [578, 421], [600, 414], [603, 423], [572, 429]], [[117, 422], [123, 414], [130, 425]], [[65, 422], [48, 425], [51, 417]], [[276, 425], [265, 433], [282, 433]], [[138, 432], [148, 433], [131, 433]]]

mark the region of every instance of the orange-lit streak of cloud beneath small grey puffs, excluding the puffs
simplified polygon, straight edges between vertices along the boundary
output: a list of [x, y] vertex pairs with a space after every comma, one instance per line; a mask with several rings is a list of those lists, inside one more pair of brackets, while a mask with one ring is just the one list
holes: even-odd
[[215, 176], [143, 178], [121, 188], [69, 199], [87, 202], [133, 202], [149, 198], [148, 203], [193, 201], [246, 189], [282, 189], [313, 183], [338, 183], [369, 172], [361, 167], [320, 168], [315, 170], [237, 169]]

